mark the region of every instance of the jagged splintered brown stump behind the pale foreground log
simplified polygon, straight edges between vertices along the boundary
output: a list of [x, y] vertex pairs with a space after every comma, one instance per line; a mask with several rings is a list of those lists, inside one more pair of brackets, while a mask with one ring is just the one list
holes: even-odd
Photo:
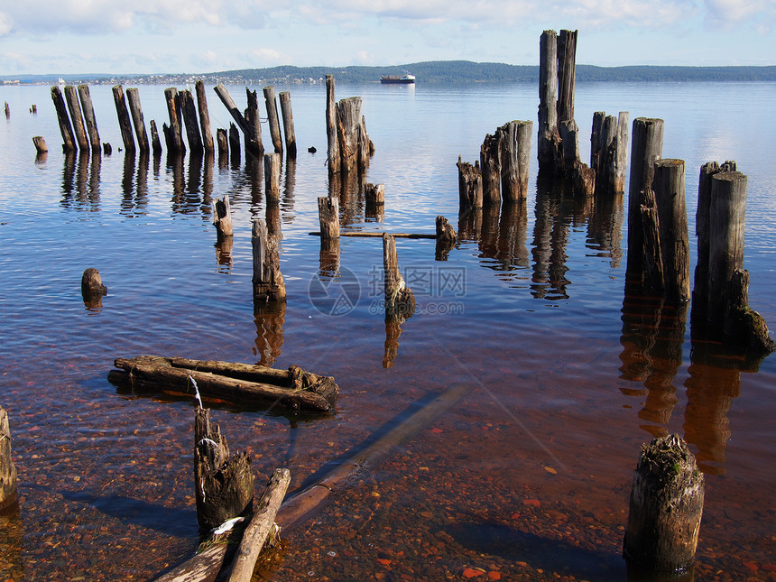
[[202, 408], [194, 417], [194, 493], [204, 531], [250, 512], [254, 502], [251, 458], [245, 452], [230, 455], [226, 437]]

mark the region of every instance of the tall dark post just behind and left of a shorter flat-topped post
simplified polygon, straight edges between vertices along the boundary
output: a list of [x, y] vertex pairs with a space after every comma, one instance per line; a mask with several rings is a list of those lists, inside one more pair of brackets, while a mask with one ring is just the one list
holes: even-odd
[[638, 117], [633, 120], [631, 181], [628, 189], [628, 260], [626, 282], [641, 285], [643, 278], [642, 205], [651, 188], [654, 164], [661, 159], [663, 120]]

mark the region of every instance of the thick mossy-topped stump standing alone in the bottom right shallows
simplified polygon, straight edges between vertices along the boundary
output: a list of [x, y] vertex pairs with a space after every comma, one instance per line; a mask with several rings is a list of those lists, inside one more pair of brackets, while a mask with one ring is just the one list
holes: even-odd
[[642, 446], [633, 475], [624, 557], [657, 575], [692, 568], [703, 489], [703, 473], [678, 435]]

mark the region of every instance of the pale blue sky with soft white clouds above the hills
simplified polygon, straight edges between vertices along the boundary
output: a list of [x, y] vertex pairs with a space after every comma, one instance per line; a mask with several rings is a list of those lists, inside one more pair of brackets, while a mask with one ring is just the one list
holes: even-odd
[[537, 65], [548, 29], [580, 64], [776, 64], [776, 0], [0, 0], [0, 76]]

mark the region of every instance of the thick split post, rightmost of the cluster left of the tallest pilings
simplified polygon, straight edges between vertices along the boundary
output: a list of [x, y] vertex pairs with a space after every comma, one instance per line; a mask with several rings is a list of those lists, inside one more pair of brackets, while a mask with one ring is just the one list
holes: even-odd
[[[506, 202], [518, 202], [528, 196], [533, 122], [511, 121], [502, 125], [499, 130], [502, 196]], [[483, 197], [485, 197], [484, 185]]]

